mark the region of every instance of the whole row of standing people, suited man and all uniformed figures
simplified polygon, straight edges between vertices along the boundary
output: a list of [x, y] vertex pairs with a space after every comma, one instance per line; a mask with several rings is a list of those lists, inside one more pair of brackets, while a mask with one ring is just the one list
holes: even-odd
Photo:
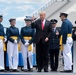
[[[15, 27], [16, 19], [9, 20], [10, 27], [7, 28], [6, 34], [4, 33], [4, 27], [1, 24], [3, 16], [0, 15], [0, 72], [5, 72], [4, 68], [4, 42], [7, 41], [7, 54], [9, 61], [9, 71], [19, 72], [18, 70], [18, 44], [21, 40], [20, 48], [23, 57], [23, 69], [22, 71], [33, 71], [33, 43], [36, 43], [36, 63], [38, 72], [44, 69], [44, 72], [48, 72], [48, 53], [50, 55], [50, 69], [51, 71], [57, 71], [58, 58], [60, 48], [63, 50], [64, 57], [64, 71], [72, 72], [72, 53], [71, 47], [72, 40], [72, 23], [67, 19], [67, 13], [60, 13], [60, 19], [62, 20], [61, 30], [56, 27], [57, 20], [46, 20], [46, 13], [41, 12], [40, 18], [35, 20], [34, 17], [26, 16], [24, 19], [25, 26], [19, 29]], [[76, 37], [75, 30], [73, 31], [73, 39]], [[27, 63], [27, 58], [29, 62]]]

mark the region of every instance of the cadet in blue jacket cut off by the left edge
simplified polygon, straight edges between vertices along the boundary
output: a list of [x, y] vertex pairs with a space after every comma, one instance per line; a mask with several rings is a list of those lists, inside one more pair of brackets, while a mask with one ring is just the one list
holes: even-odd
[[3, 16], [0, 15], [0, 72], [4, 72], [4, 42], [6, 42], [4, 27], [1, 24]]

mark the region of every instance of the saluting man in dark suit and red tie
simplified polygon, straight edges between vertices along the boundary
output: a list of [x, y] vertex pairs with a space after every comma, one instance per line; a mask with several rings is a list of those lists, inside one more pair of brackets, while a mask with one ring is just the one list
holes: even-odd
[[45, 12], [41, 12], [40, 18], [31, 25], [32, 28], [36, 28], [34, 43], [36, 43], [36, 60], [38, 72], [41, 72], [43, 68], [44, 72], [48, 72], [48, 38], [51, 27], [50, 22], [46, 20], [45, 17]]

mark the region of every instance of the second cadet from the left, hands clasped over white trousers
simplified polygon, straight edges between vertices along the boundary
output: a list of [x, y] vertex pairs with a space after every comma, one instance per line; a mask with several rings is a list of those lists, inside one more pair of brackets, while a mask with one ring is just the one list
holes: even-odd
[[[9, 69], [11, 71], [19, 71], [18, 68], [18, 43], [19, 43], [19, 29], [15, 27], [16, 19], [9, 20], [10, 27], [7, 28], [7, 53], [9, 61]], [[12, 60], [13, 58], [13, 60]]]

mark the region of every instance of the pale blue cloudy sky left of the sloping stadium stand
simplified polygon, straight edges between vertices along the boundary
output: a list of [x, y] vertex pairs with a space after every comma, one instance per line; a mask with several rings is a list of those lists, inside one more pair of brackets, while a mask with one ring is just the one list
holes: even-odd
[[8, 20], [16, 18], [16, 26], [21, 28], [24, 26], [22, 19], [27, 15], [31, 15], [44, 3], [46, 3], [46, 0], [0, 0], [0, 14], [3, 15], [3, 26], [9, 27]]

